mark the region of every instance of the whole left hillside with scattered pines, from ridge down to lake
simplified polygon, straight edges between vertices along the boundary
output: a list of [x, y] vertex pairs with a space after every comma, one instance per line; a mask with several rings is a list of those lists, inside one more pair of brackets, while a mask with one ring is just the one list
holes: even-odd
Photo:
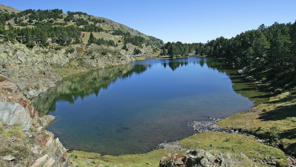
[[0, 74], [28, 98], [70, 75], [157, 55], [163, 41], [83, 12], [0, 5]]

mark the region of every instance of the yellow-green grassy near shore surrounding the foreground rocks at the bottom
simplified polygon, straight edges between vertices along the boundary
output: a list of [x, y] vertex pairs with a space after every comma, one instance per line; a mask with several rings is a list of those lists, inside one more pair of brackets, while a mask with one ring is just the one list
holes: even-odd
[[[261, 144], [256, 139], [247, 136], [221, 132], [199, 133], [181, 140], [180, 145], [185, 149], [207, 150], [213, 155], [219, 155], [221, 153], [229, 166], [265, 166], [257, 162], [260, 160], [269, 161], [271, 157], [274, 157], [278, 166], [287, 166], [284, 152], [280, 149]], [[99, 166], [100, 164], [110, 167], [157, 167], [161, 157], [176, 152], [181, 151], [159, 149], [147, 154], [119, 156], [101, 156], [98, 153], [74, 151], [70, 153], [70, 158], [73, 161], [73, 165], [83, 167]]]

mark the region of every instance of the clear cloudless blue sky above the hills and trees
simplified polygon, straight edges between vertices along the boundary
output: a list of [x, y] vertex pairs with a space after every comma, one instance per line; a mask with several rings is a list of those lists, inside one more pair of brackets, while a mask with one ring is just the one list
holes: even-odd
[[296, 20], [296, 0], [0, 0], [18, 10], [81, 11], [125, 24], [164, 42], [202, 42], [274, 22]]

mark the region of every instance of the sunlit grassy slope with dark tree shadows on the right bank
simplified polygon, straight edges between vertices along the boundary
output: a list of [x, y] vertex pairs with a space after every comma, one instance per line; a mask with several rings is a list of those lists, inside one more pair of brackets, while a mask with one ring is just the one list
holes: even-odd
[[[247, 112], [219, 121], [226, 129], [241, 130], [276, 142], [286, 153], [296, 152], [296, 96], [284, 92]], [[278, 141], [275, 140], [276, 133]]]

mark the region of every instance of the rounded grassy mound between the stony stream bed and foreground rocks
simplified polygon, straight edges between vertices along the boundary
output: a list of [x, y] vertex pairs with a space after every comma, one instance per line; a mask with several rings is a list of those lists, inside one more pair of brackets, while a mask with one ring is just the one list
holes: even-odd
[[180, 141], [186, 149], [218, 149], [221, 152], [242, 152], [247, 157], [259, 160], [274, 156], [285, 159], [280, 149], [259, 143], [255, 138], [224, 132], [205, 132], [190, 136]]

